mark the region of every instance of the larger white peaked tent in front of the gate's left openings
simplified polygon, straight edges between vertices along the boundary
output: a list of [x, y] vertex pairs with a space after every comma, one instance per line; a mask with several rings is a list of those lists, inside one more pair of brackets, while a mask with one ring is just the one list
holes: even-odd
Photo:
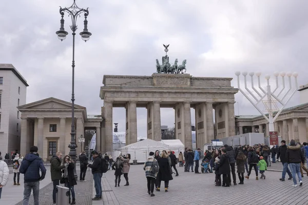
[[137, 160], [137, 162], [140, 163], [146, 161], [150, 152], [155, 152], [156, 150], [161, 152], [168, 149], [169, 147], [160, 141], [144, 139], [142, 141], [138, 141], [136, 143], [122, 147], [118, 149], [118, 151], [121, 151], [122, 155], [130, 154], [130, 162]]

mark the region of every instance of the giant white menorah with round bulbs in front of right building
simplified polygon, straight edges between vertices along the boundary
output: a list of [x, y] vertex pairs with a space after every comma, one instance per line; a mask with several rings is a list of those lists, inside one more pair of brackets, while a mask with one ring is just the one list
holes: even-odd
[[[271, 86], [269, 85], [269, 79], [271, 78], [271, 75], [265, 75], [265, 79], [267, 81], [267, 86], [266, 86], [266, 91], [261, 87], [260, 85], [260, 76], [261, 73], [260, 72], [250, 72], [249, 75], [251, 76], [251, 87], [252, 89], [255, 91], [255, 93], [257, 95], [255, 95], [254, 93], [252, 93], [251, 90], [249, 90], [247, 88], [247, 72], [242, 72], [242, 75], [244, 76], [244, 85], [245, 85], [245, 89], [248, 91], [248, 93], [254, 98], [251, 99], [249, 98], [248, 95], [246, 95], [246, 93], [244, 93], [244, 91], [240, 88], [240, 74], [241, 72], [237, 71], [235, 72], [235, 75], [237, 76], [237, 82], [238, 82], [238, 89], [239, 91], [241, 91], [241, 93], [251, 102], [251, 104], [253, 104], [253, 106], [255, 106], [255, 108], [263, 115], [263, 117], [268, 121], [268, 130], [269, 132], [274, 132], [274, 122], [277, 119], [277, 117], [279, 116], [279, 114], [281, 113], [281, 111], [283, 110], [283, 108], [285, 107], [285, 105], [288, 103], [288, 101], [290, 101], [290, 99], [292, 98], [292, 96], [294, 95], [294, 93], [297, 91], [298, 86], [297, 86], [297, 76], [298, 74], [296, 72], [291, 73], [291, 72], [281, 72], [280, 76], [282, 77], [282, 89], [280, 90], [280, 92], [278, 94], [276, 94], [276, 92], [278, 92], [279, 89], [279, 83], [278, 83], [278, 77], [279, 77], [279, 73], [275, 72], [274, 76], [276, 78], [276, 88], [274, 91], [271, 90]], [[258, 78], [258, 87], [261, 91], [261, 93], [254, 87], [254, 75], [256, 74], [257, 78]], [[285, 75], [288, 77], [288, 84], [289, 84], [289, 89], [286, 91], [286, 93], [283, 95], [283, 97], [279, 97], [280, 94], [284, 91], [285, 89]], [[288, 95], [288, 93], [290, 93], [290, 91], [292, 90], [292, 82], [291, 82], [291, 77], [294, 77], [295, 80], [295, 89], [293, 90], [292, 94], [284, 101], [285, 97]], [[263, 100], [264, 98], [267, 98], [266, 100]], [[268, 112], [268, 117], [265, 115], [265, 113], [263, 111], [261, 111], [261, 109], [258, 107], [258, 104], [260, 102], [263, 102], [264, 106], [265, 106], [265, 110]], [[277, 104], [281, 104], [282, 107], [279, 109]], [[274, 111], [278, 111], [277, 114], [274, 117]], [[276, 130], [277, 131], [277, 130]]]

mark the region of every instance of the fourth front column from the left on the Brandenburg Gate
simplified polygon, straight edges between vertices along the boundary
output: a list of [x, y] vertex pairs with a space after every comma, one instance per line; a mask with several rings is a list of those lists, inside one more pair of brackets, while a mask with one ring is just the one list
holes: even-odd
[[184, 102], [184, 134], [185, 147], [192, 149], [190, 102]]

